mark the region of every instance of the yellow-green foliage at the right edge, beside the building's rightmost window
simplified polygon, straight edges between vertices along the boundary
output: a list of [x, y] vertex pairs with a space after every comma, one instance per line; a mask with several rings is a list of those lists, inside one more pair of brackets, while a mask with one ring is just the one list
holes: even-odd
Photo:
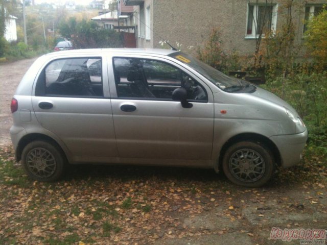
[[327, 9], [326, 6], [317, 16], [313, 16], [307, 23], [305, 44], [312, 57], [320, 64], [327, 66]]

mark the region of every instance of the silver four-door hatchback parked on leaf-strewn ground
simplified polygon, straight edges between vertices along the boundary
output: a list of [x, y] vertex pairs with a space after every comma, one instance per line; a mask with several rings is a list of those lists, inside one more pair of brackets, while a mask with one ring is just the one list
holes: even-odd
[[11, 102], [17, 161], [54, 181], [67, 164], [223, 169], [258, 187], [300, 161], [308, 131], [274, 94], [170, 50], [95, 49], [38, 58]]

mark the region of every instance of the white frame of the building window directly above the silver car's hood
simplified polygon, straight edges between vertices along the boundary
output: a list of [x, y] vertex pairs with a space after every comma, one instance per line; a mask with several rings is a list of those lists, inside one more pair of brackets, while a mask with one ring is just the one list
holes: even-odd
[[[248, 21], [249, 21], [249, 17], [250, 17], [250, 6], [253, 6], [253, 20], [252, 20], [252, 33], [251, 34], [247, 34], [247, 29], [248, 29]], [[245, 39], [256, 39], [259, 38], [260, 34], [255, 34], [256, 32], [256, 27], [258, 27], [258, 23], [256, 23], [257, 21], [257, 15], [258, 15], [258, 9], [260, 6], [266, 6], [266, 3], [250, 3], [247, 4], [247, 8], [246, 8], [246, 26], [245, 26]], [[267, 4], [267, 7], [272, 7], [272, 13], [271, 13], [271, 32], [275, 33], [276, 31], [276, 27], [277, 27], [277, 15], [278, 15], [278, 4]], [[254, 33], [253, 33], [254, 32]], [[264, 34], [262, 34], [262, 37], [265, 37]]]

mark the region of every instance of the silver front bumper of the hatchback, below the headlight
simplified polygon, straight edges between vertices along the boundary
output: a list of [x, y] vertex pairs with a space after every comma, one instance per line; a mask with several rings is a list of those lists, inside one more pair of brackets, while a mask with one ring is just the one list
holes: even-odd
[[301, 153], [308, 139], [308, 131], [306, 129], [306, 131], [299, 134], [275, 135], [270, 139], [275, 143], [281, 154], [282, 167], [287, 168], [296, 165], [301, 160]]

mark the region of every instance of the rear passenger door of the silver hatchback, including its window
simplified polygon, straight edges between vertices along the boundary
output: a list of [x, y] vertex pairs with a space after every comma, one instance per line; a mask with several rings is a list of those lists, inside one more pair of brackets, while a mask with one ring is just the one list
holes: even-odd
[[106, 66], [101, 56], [56, 59], [37, 80], [32, 99], [37, 120], [62, 140], [74, 162], [118, 156]]

